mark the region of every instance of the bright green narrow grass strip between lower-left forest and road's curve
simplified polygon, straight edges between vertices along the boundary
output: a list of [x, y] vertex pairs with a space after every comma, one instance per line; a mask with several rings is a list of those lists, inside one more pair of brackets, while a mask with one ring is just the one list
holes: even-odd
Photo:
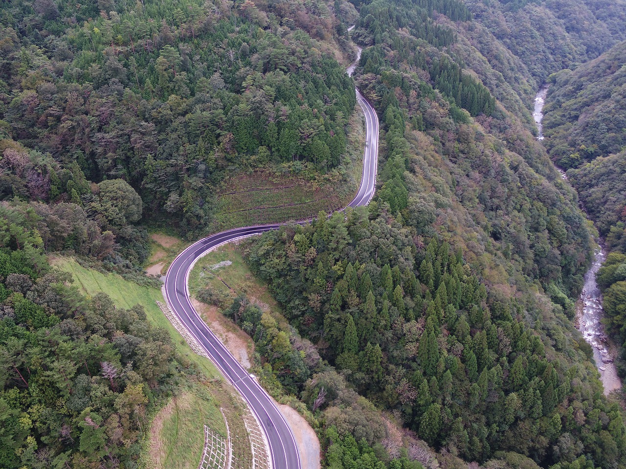
[[118, 276], [117, 274], [102, 274], [93, 269], [87, 269], [78, 264], [74, 259], [67, 257], [57, 257], [51, 259], [51, 263], [59, 270], [69, 272], [74, 278], [74, 284], [83, 291], [83, 293], [93, 296], [99, 292], [105, 292], [111, 297], [115, 306], [128, 309], [141, 304], [146, 311], [146, 316], [151, 324], [155, 326], [165, 327], [170, 332], [177, 352], [195, 363], [206, 376], [214, 378], [219, 376], [217, 369], [213, 364], [205, 358], [193, 353], [189, 348], [185, 339], [178, 333], [174, 326], [163, 316], [163, 312], [156, 304], [157, 301], [165, 302], [163, 294], [159, 289], [142, 287], [134, 282], [129, 282]]

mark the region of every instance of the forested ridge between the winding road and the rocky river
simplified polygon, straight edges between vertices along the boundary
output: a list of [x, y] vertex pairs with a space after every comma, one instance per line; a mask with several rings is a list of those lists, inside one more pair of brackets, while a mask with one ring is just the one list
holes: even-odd
[[[413, 432], [409, 441], [439, 451], [408, 445], [427, 466], [433, 458], [444, 467], [461, 466], [458, 458], [626, 465], [623, 415], [601, 396], [591, 350], [571, 321], [591, 254], [588, 225], [531, 135], [525, 107], [550, 68], [602, 52], [584, 44], [623, 24], [615, 5], [622, 10], [610, 20], [565, 31], [566, 4], [494, 3], [484, 18], [455, 1], [359, 4], [355, 37], [369, 47], [356, 80], [383, 130], [377, 196], [346, 220], [292, 225], [251, 243], [247, 261], [294, 330], [254, 305], [231, 309], [275, 379], [326, 423], [327, 466], [397, 455], [388, 418]], [[569, 50], [565, 41], [539, 45], [540, 57], [518, 54], [528, 37], [506, 44], [485, 26], [500, 16], [519, 29], [533, 11], [552, 18], [548, 31], [562, 28]], [[299, 350], [312, 353], [300, 336], [332, 368], [299, 359]], [[346, 382], [367, 401], [349, 405]]]

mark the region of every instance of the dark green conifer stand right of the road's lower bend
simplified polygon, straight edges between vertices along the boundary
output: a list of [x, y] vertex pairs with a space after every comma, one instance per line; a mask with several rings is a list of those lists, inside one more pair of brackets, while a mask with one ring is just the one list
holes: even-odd
[[[321, 357], [419, 438], [465, 460], [508, 451], [542, 466], [571, 467], [581, 454], [589, 456], [585, 466], [623, 465], [619, 406], [600, 398], [593, 368], [576, 364], [590, 350], [558, 326], [567, 321], [562, 313], [488, 291], [461, 249], [435, 239], [424, 245], [413, 227], [381, 212], [321, 216], [264, 235], [249, 250], [250, 265]], [[303, 339], [292, 338], [290, 348], [258, 307], [236, 302], [230, 311], [283, 386], [323, 411], [327, 425], [381, 442], [381, 418], [359, 417], [365, 403], [345, 405], [349, 393], [336, 372], [311, 353], [302, 359]]]

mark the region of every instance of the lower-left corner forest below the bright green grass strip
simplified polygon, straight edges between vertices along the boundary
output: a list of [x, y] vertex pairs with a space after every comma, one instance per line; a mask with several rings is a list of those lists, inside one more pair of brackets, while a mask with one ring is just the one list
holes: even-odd
[[0, 467], [135, 467], [150, 411], [197, 371], [141, 306], [51, 269], [38, 208], [0, 205]]

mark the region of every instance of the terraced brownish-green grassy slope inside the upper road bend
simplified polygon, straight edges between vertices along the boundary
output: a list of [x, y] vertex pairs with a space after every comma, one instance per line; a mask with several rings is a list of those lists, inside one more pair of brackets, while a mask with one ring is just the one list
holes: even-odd
[[294, 165], [285, 165], [227, 178], [217, 194], [212, 231], [307, 219], [351, 202], [361, 183], [365, 145], [364, 116], [359, 105], [348, 126], [344, 160], [326, 175], [312, 172], [305, 177], [305, 171], [296, 173]]

